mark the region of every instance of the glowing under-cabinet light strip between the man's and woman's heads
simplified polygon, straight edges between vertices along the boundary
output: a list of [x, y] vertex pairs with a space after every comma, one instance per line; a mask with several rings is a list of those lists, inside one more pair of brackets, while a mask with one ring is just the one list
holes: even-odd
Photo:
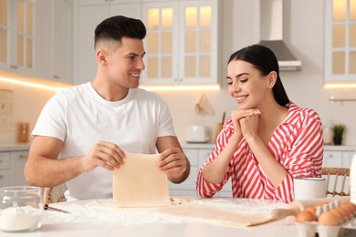
[[173, 85], [173, 86], [166, 86], [166, 85], [143, 85], [140, 88], [146, 90], [219, 90], [220, 85], [218, 84], [194, 84], [194, 85]]

